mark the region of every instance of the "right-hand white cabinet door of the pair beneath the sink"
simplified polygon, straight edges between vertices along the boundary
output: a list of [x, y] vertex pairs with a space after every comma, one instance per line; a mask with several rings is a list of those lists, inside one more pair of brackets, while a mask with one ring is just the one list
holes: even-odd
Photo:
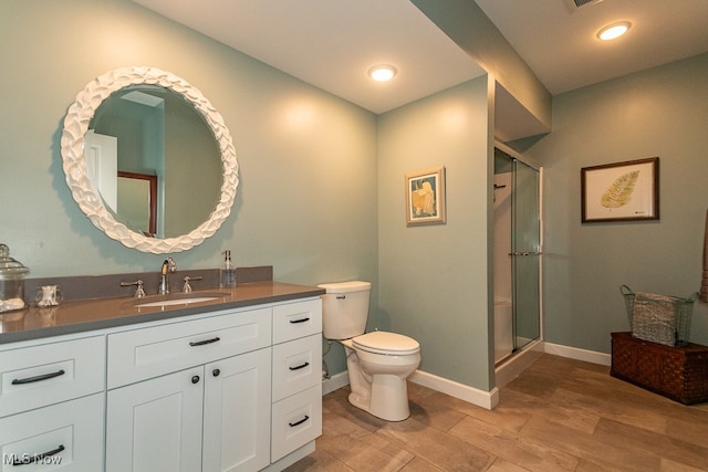
[[270, 463], [271, 349], [206, 366], [204, 471], [258, 471]]

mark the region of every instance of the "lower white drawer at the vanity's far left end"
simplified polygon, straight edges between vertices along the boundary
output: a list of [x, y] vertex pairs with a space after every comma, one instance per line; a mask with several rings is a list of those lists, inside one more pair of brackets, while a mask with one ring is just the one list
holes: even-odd
[[0, 419], [0, 470], [103, 470], [103, 405], [95, 394]]

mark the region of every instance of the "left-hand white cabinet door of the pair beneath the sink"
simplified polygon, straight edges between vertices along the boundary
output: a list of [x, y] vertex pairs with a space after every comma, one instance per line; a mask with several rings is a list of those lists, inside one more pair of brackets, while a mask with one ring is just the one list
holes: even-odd
[[204, 367], [108, 391], [106, 472], [201, 469]]

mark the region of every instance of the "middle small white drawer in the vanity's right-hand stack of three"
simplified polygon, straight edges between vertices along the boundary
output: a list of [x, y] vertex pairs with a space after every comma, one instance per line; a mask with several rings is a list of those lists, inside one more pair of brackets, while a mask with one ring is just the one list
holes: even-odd
[[273, 401], [322, 384], [322, 336], [273, 346]]

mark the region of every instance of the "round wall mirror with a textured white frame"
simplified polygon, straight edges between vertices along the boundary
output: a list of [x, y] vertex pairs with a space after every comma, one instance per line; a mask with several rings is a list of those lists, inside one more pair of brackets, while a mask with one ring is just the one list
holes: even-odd
[[88, 83], [69, 108], [61, 151], [81, 210], [140, 251], [201, 243], [236, 199], [238, 161], [221, 115], [158, 69], [118, 69]]

